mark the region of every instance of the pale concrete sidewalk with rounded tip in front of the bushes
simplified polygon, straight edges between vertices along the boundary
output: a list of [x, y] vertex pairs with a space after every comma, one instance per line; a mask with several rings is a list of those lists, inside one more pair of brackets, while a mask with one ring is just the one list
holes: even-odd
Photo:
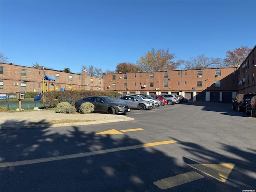
[[[87, 120], [88, 122], [61, 123], [61, 124], [34, 124], [24, 125], [24, 123], [38, 123], [50, 120]], [[60, 126], [78, 126], [89, 124], [100, 124], [118, 121], [129, 121], [134, 118], [126, 117], [126, 115], [112, 114], [66, 114], [56, 113], [54, 110], [40, 110], [30, 112], [0, 112], [0, 129], [17, 129], [17, 128], [47, 128]]]

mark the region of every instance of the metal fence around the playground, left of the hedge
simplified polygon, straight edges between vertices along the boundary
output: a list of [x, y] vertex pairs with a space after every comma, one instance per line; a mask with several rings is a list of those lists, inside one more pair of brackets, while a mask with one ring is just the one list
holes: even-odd
[[[44, 104], [40, 99], [36, 101], [38, 93], [25, 93], [25, 98], [21, 101], [21, 108], [34, 109], [34, 107], [44, 108]], [[34, 100], [35, 99], [35, 100]], [[16, 93], [0, 94], [0, 107], [7, 107], [9, 110], [16, 110], [19, 108], [19, 100], [16, 99]]]

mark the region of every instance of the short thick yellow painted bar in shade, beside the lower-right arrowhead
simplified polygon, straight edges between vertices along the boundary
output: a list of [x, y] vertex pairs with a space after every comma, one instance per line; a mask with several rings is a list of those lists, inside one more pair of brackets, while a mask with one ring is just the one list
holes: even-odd
[[164, 178], [153, 182], [154, 185], [158, 186], [160, 189], [168, 189], [178, 185], [182, 185], [194, 180], [202, 179], [204, 176], [198, 174], [197, 172], [191, 171], [184, 174], [179, 174], [173, 177]]

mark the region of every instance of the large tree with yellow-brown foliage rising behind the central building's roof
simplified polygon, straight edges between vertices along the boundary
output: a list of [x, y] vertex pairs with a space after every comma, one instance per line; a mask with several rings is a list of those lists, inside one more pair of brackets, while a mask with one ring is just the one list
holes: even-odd
[[137, 65], [141, 71], [158, 71], [158, 70], [174, 70], [180, 66], [183, 60], [174, 62], [175, 54], [170, 53], [169, 49], [155, 50], [152, 48], [144, 56], [137, 61]]

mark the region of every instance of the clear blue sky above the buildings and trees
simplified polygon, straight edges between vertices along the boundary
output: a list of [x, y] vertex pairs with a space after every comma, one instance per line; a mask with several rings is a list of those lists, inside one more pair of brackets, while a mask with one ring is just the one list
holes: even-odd
[[9, 62], [73, 73], [136, 64], [151, 48], [189, 60], [256, 45], [256, 1], [1, 0], [0, 12]]

